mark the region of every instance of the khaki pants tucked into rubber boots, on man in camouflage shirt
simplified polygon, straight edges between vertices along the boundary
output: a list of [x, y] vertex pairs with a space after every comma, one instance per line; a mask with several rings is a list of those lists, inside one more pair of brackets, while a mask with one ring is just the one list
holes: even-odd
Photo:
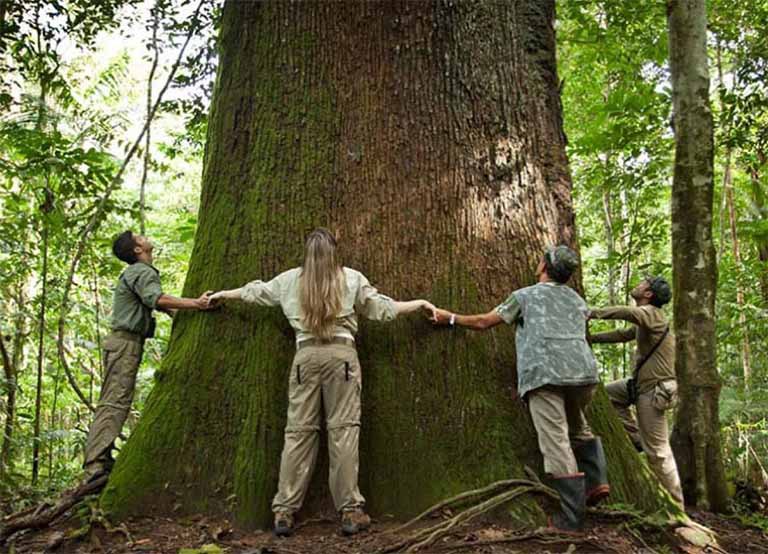
[[546, 473], [559, 477], [579, 472], [573, 448], [595, 438], [584, 417], [594, 393], [595, 385], [546, 385], [526, 395]]

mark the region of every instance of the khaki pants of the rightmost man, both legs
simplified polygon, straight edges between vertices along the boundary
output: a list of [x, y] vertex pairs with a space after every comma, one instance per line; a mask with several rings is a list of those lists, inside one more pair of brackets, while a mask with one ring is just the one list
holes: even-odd
[[672, 454], [672, 447], [669, 445], [669, 429], [665, 414], [665, 411], [675, 404], [677, 383], [674, 379], [661, 381], [654, 389], [640, 393], [635, 406], [637, 412], [637, 420], [635, 420], [627, 395], [628, 380], [619, 379], [608, 384], [605, 387], [608, 397], [619, 412], [619, 417], [632, 442], [642, 446], [643, 452], [648, 456], [648, 465], [651, 466], [656, 477], [672, 498], [683, 506], [683, 491], [680, 487], [677, 463]]

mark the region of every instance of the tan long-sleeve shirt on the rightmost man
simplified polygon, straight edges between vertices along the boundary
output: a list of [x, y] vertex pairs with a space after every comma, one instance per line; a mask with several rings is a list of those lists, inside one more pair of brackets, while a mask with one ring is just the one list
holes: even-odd
[[[611, 306], [592, 310], [594, 319], [621, 319], [633, 323], [631, 327], [598, 333], [590, 336], [590, 341], [628, 342], [637, 341], [635, 365], [645, 358], [648, 352], [661, 340], [669, 325], [664, 310], [646, 304], [645, 306]], [[634, 371], [634, 366], [633, 366]], [[637, 386], [640, 392], [651, 390], [657, 382], [675, 378], [675, 336], [670, 331], [653, 355], [640, 368]]]

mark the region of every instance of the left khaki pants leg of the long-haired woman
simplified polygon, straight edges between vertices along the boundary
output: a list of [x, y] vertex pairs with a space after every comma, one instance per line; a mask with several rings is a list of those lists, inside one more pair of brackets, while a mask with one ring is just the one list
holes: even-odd
[[[309, 349], [307, 349], [309, 350]], [[296, 353], [288, 381], [288, 417], [274, 512], [296, 512], [304, 503], [317, 461], [320, 434], [320, 367], [308, 352]]]

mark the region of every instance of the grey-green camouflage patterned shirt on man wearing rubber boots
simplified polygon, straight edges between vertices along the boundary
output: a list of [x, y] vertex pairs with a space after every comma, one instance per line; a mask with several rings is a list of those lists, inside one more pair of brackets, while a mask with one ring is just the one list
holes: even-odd
[[597, 364], [586, 339], [589, 309], [576, 291], [559, 283], [538, 283], [510, 294], [496, 313], [517, 325], [520, 396], [544, 385], [597, 383]]

